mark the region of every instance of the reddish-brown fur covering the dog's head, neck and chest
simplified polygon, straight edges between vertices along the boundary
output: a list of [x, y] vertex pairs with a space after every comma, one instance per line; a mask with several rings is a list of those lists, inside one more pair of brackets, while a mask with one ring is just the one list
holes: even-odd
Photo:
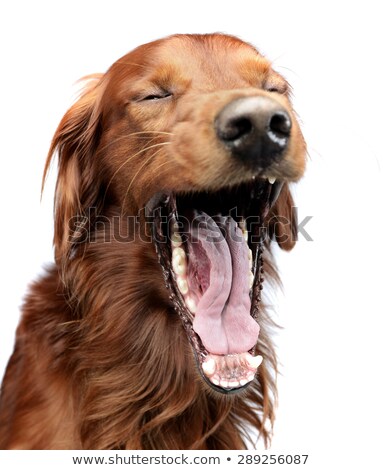
[[[287, 87], [252, 46], [222, 35], [144, 45], [90, 79], [47, 160], [46, 171], [57, 152], [56, 264], [23, 307], [2, 386], [0, 448], [242, 449], [252, 428], [269, 442], [277, 361], [266, 311], [257, 345], [264, 362], [252, 386], [234, 396], [211, 390], [139, 223], [157, 191], [248, 177], [211, 122], [235, 97], [269, 95], [266, 82]], [[172, 87], [176, 98], [137, 101], [158, 87]], [[283, 91], [273, 97], [291, 111]], [[279, 175], [289, 180], [302, 175], [305, 159], [293, 121]], [[271, 214], [290, 221], [272, 227], [285, 249], [294, 244], [292, 204], [285, 186]], [[90, 232], [78, 225], [89, 208], [104, 216], [96, 227], [91, 216]], [[137, 214], [136, 223], [126, 218]], [[266, 274], [276, 280], [271, 255]]]

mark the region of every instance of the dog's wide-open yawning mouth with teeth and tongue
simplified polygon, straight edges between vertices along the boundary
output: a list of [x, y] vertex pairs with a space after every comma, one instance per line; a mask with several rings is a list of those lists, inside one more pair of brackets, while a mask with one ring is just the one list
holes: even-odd
[[221, 393], [246, 387], [256, 355], [265, 219], [283, 183], [158, 193], [146, 205], [170, 299], [199, 371]]

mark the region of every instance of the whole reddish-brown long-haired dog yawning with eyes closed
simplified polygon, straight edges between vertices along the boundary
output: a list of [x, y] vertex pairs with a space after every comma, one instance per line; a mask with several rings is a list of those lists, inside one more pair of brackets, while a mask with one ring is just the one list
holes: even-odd
[[294, 246], [306, 160], [287, 82], [232, 36], [144, 44], [87, 78], [44, 178], [54, 155], [55, 264], [23, 306], [0, 447], [269, 443], [261, 290], [272, 244]]

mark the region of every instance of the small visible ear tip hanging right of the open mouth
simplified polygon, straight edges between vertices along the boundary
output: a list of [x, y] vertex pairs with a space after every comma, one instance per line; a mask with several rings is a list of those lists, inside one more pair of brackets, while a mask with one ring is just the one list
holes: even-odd
[[270, 211], [268, 229], [283, 250], [291, 250], [297, 241], [298, 223], [294, 199], [287, 183], [283, 184], [278, 199]]

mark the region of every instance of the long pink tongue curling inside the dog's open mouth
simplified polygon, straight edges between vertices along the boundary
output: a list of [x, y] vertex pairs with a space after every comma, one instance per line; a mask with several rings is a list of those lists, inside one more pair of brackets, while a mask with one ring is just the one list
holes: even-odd
[[[189, 262], [197, 264], [193, 268], [198, 277], [210, 282], [198, 295], [193, 329], [212, 354], [248, 351], [257, 342], [259, 325], [250, 315], [247, 243], [231, 217], [219, 219], [225, 238], [207, 214], [197, 220], [191, 228]], [[202, 253], [202, 266], [198, 266]]]

